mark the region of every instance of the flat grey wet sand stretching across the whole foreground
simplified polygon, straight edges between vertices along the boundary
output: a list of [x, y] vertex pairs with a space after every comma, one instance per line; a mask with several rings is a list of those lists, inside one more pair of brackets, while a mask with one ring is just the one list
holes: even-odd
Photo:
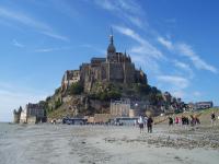
[[219, 127], [0, 125], [0, 164], [218, 164]]

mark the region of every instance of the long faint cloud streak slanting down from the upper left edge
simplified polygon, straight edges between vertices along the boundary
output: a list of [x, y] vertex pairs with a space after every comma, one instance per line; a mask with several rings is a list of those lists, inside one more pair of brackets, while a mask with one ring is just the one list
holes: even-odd
[[9, 21], [21, 23], [25, 26], [32, 27], [36, 30], [37, 32], [47, 35], [49, 37], [61, 39], [61, 40], [68, 40], [66, 36], [59, 35], [54, 32], [54, 30], [46, 23], [37, 21], [27, 14], [23, 14], [20, 12], [15, 12], [5, 8], [0, 7], [0, 17], [7, 19]]

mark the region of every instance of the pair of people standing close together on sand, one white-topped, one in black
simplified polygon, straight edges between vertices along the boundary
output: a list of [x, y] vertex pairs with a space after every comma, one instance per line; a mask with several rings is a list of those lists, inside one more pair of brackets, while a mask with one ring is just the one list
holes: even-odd
[[140, 129], [140, 133], [143, 132], [143, 128], [147, 126], [148, 132], [152, 132], [152, 124], [153, 124], [153, 119], [152, 117], [143, 117], [140, 116], [136, 122], [136, 125], [139, 126]]

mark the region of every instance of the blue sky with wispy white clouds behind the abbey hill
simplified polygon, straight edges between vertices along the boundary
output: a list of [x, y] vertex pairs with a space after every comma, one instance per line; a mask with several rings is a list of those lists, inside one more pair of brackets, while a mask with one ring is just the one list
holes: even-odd
[[218, 0], [1, 0], [0, 121], [53, 95], [66, 70], [117, 51], [149, 84], [219, 105]]

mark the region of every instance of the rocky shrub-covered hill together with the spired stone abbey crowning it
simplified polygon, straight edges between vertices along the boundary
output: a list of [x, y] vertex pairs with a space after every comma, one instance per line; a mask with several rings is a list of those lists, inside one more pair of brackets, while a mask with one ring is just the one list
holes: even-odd
[[67, 70], [61, 85], [47, 97], [45, 108], [49, 118], [82, 117], [110, 113], [111, 101], [128, 98], [145, 102], [155, 115], [182, 109], [184, 103], [148, 84], [147, 74], [136, 69], [128, 54], [116, 51], [113, 35], [105, 58], [92, 58], [79, 70]]

